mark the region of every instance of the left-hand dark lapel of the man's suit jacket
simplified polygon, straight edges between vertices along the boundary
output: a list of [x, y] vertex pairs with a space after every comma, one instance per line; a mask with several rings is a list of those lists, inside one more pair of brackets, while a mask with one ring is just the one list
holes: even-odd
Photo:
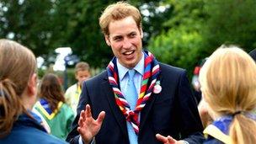
[[112, 114], [115, 116], [115, 120], [117, 121], [118, 125], [120, 125], [120, 129], [124, 132], [125, 136], [128, 136], [127, 128], [126, 128], [126, 120], [125, 116], [122, 114], [121, 110], [115, 104], [115, 95], [114, 92], [109, 85], [109, 81], [107, 77], [104, 77], [104, 82], [102, 83], [103, 93], [104, 96], [107, 98], [109, 107], [111, 109]]

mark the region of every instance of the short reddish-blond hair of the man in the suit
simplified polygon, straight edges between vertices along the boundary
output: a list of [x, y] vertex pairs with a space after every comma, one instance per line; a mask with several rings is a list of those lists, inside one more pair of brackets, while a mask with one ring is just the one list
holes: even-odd
[[111, 21], [125, 19], [129, 16], [136, 21], [138, 29], [141, 29], [141, 13], [138, 8], [125, 2], [114, 3], [105, 8], [99, 18], [99, 25], [104, 35], [109, 35], [109, 23]]

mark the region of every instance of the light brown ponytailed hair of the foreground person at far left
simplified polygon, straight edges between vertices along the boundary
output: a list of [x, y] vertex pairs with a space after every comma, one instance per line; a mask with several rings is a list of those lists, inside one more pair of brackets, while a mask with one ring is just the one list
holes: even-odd
[[19, 115], [26, 113], [21, 95], [36, 71], [34, 54], [13, 40], [0, 40], [0, 137], [8, 135]]

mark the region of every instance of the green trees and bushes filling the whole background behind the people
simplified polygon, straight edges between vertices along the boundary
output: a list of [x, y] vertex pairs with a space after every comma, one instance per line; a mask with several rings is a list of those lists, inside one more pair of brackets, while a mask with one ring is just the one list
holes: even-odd
[[[1, 0], [0, 37], [19, 41], [48, 61], [57, 47], [70, 46], [81, 61], [102, 68], [113, 54], [104, 42], [99, 16], [114, 2]], [[240, 45], [245, 51], [256, 47], [255, 0], [129, 2], [149, 13], [143, 15], [143, 47], [159, 61], [186, 68], [189, 74], [198, 61], [222, 44]], [[163, 12], [160, 6], [165, 8]], [[40, 77], [43, 74], [39, 70]]]

